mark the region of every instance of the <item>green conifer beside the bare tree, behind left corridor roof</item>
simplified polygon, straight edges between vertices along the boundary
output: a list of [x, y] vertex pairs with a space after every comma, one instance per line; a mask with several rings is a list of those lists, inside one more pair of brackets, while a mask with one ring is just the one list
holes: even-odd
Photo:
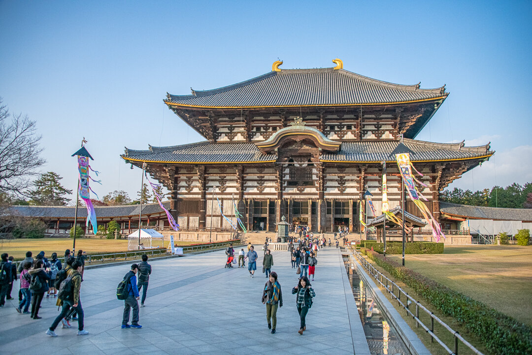
[[43, 206], [65, 206], [70, 199], [64, 195], [69, 195], [72, 190], [64, 188], [59, 174], [48, 171], [34, 181], [35, 188], [30, 192], [32, 204]]

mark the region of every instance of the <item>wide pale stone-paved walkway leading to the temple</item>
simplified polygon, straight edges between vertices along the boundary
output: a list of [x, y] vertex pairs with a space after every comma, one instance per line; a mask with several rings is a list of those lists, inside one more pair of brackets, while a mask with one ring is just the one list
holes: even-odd
[[[237, 253], [240, 249], [236, 249]], [[272, 271], [279, 274], [284, 307], [277, 312], [277, 333], [270, 334], [261, 303], [266, 280], [261, 272], [263, 252], [257, 253], [260, 261], [254, 278], [247, 267], [223, 268], [223, 251], [153, 260], [146, 307], [140, 308], [142, 329], [120, 328], [123, 302], [117, 300], [115, 292], [129, 266], [87, 269], [81, 301], [89, 335], [76, 335], [76, 322], [70, 329], [57, 327], [59, 336], [55, 338], [45, 335], [58, 314], [55, 299], [43, 300], [40, 320], [19, 314], [14, 309], [17, 304], [7, 301], [6, 307], [0, 309], [0, 353], [369, 353], [356, 306], [353, 311], [354, 299], [345, 281], [339, 249], [326, 248], [318, 254], [312, 282], [316, 297], [307, 315], [304, 335], [297, 333], [299, 316], [295, 295], [291, 293], [297, 276], [288, 252], [273, 253]]]

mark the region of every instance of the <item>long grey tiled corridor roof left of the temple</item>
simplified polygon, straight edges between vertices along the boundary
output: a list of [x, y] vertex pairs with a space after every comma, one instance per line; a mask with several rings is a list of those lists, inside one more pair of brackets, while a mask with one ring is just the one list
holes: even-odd
[[[170, 201], [163, 202], [165, 208], [170, 208]], [[47, 218], [74, 218], [76, 208], [74, 206], [12, 206], [13, 214], [23, 217], [47, 217]], [[138, 217], [140, 205], [120, 205], [120, 206], [95, 206], [96, 218], [110, 217]], [[158, 203], [144, 204], [142, 215], [163, 213]], [[87, 208], [78, 207], [78, 218], [87, 218]]]

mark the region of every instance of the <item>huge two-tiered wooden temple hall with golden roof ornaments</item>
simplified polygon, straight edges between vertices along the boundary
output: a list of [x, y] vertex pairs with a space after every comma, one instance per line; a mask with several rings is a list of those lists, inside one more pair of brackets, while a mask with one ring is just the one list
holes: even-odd
[[[168, 108], [206, 140], [126, 148], [122, 158], [138, 167], [146, 163], [148, 173], [168, 188], [181, 229], [229, 228], [218, 198], [223, 214], [235, 220], [236, 205], [250, 230], [275, 231], [285, 216], [316, 232], [340, 225], [356, 231], [367, 189], [380, 214], [383, 161], [390, 208], [400, 204], [400, 177], [390, 153], [403, 137], [427, 185], [427, 205], [439, 218], [439, 192], [489, 159], [489, 144], [415, 140], [446, 99], [445, 86], [390, 84], [334, 62], [335, 68], [284, 70], [278, 61], [271, 72], [238, 84], [167, 94]], [[406, 211], [420, 217], [411, 203]]]

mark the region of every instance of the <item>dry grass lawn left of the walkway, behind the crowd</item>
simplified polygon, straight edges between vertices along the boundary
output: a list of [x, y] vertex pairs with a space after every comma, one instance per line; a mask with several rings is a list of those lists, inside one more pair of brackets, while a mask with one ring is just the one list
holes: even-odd
[[[49, 258], [53, 252], [56, 252], [59, 257], [63, 257], [66, 249], [72, 250], [73, 240], [70, 238], [42, 238], [42, 239], [9, 239], [0, 240], [0, 253], [7, 253], [13, 255], [15, 260], [24, 259], [26, 252], [29, 250], [34, 257], [41, 250]], [[164, 241], [164, 246], [168, 247], [169, 241]], [[177, 245], [188, 245], [193, 242], [175, 242]], [[152, 243], [153, 247], [162, 246], [161, 241]], [[90, 239], [77, 238], [76, 250], [83, 250], [89, 254], [97, 254], [102, 252], [122, 252], [128, 250], [127, 240], [114, 239]]]

